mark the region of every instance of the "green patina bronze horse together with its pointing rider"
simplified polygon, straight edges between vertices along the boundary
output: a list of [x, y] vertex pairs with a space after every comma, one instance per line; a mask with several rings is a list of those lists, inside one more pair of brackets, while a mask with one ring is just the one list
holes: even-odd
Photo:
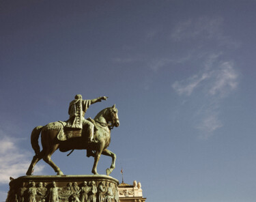
[[[75, 100], [70, 102], [68, 121], [57, 121], [46, 126], [37, 126], [31, 133], [31, 145], [35, 156], [31, 161], [27, 175], [32, 175], [35, 164], [43, 159], [48, 163], [57, 175], [63, 175], [62, 171], [51, 160], [52, 154], [59, 149], [61, 152], [68, 152], [74, 149], [87, 149], [87, 156], [94, 157], [92, 173], [97, 173], [97, 164], [100, 155], [111, 156], [112, 163], [106, 169], [109, 175], [115, 169], [115, 154], [108, 149], [111, 141], [111, 129], [119, 126], [118, 111], [115, 104], [103, 109], [94, 119], [85, 119], [84, 115], [90, 104], [106, 100], [107, 97], [100, 97], [94, 100], [82, 100], [81, 95], [76, 95]], [[38, 144], [41, 134], [42, 150]]]

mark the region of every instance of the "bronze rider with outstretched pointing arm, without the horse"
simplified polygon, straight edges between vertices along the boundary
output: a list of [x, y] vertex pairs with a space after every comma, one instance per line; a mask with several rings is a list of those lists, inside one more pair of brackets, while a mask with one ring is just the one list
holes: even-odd
[[85, 119], [85, 113], [91, 104], [96, 102], [101, 102], [101, 100], [106, 100], [107, 97], [103, 96], [100, 98], [96, 98], [93, 100], [83, 100], [80, 94], [74, 97], [74, 100], [70, 102], [70, 106], [68, 108], [68, 114], [70, 118], [68, 119], [67, 128], [71, 128], [72, 130], [82, 130], [83, 126], [88, 126], [88, 141], [89, 143], [96, 143], [97, 141], [94, 139], [94, 124], [91, 121]]

